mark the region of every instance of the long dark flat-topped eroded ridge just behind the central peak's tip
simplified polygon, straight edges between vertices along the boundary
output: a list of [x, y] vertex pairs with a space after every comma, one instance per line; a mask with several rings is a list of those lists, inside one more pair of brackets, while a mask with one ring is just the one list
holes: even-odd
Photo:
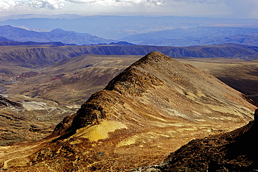
[[207, 45], [190, 47], [159, 47], [148, 45], [84, 45], [61, 46], [51, 45], [2, 46], [0, 47], [0, 63], [16, 63], [24, 66], [51, 65], [57, 61], [83, 54], [99, 55], [141, 55], [149, 52], [160, 52], [171, 57], [224, 57], [240, 58], [250, 61], [257, 59], [258, 47], [248, 45]]

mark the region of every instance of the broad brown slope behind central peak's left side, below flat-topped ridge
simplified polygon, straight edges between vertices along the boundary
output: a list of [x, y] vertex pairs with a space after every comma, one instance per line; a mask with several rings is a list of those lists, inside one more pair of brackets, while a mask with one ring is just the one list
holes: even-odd
[[105, 88], [111, 79], [139, 58], [139, 56], [77, 56], [54, 63], [49, 68], [29, 70], [16, 75], [15, 82], [3, 84], [6, 89], [4, 93], [41, 97], [65, 106], [79, 108], [91, 94]]

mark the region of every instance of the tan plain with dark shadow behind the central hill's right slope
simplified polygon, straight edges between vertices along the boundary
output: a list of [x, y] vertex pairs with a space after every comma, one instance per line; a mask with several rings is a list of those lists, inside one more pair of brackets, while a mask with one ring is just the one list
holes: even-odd
[[183, 63], [206, 70], [225, 84], [258, 102], [258, 61], [226, 58], [178, 58]]

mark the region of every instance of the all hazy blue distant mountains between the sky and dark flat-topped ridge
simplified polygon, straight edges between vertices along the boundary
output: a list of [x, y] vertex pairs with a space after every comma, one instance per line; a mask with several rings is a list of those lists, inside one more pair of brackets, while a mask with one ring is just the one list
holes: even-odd
[[13, 28], [9, 28], [9, 31], [3, 30], [0, 36], [15, 41], [63, 42], [77, 45], [118, 41], [176, 47], [224, 43], [258, 45], [257, 19], [78, 15], [20, 17], [22, 18], [10, 17], [13, 19], [1, 21], [0, 25], [24, 28], [26, 31], [17, 30], [11, 33]]

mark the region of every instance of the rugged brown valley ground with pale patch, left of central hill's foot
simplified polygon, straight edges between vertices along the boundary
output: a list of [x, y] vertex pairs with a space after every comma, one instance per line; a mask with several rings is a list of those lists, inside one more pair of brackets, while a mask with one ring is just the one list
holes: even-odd
[[0, 146], [39, 141], [50, 135], [63, 117], [75, 113], [51, 100], [22, 95], [9, 99], [0, 95]]

